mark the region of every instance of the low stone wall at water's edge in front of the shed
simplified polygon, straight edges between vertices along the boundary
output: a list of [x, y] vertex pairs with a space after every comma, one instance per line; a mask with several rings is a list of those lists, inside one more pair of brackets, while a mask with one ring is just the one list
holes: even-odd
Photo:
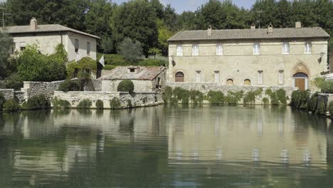
[[55, 91], [53, 98], [68, 100], [72, 108], [76, 108], [81, 100], [91, 100], [93, 105], [91, 108], [96, 108], [96, 101], [102, 100], [104, 108], [110, 108], [110, 100], [113, 98], [120, 99], [120, 108], [144, 107], [163, 104], [161, 95], [158, 93], [120, 93], [120, 92], [103, 92], [103, 91]]

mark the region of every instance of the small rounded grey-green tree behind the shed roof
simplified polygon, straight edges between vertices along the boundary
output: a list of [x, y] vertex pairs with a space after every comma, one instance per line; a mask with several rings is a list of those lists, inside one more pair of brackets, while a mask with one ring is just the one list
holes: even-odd
[[118, 46], [118, 53], [125, 60], [137, 63], [137, 59], [142, 56], [142, 44], [139, 41], [132, 41], [131, 38], [125, 38]]

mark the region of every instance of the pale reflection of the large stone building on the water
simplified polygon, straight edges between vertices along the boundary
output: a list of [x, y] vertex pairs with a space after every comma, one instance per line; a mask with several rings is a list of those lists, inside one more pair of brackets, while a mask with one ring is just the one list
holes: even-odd
[[[232, 107], [213, 113], [207, 109], [201, 115], [189, 112], [186, 118], [170, 124], [169, 160], [287, 164], [326, 161], [326, 138], [318, 137], [309, 128], [312, 122], [292, 122], [295, 117], [290, 108], [285, 113], [257, 108], [250, 114], [245, 112], [248, 109]], [[302, 137], [295, 131], [302, 132]]]

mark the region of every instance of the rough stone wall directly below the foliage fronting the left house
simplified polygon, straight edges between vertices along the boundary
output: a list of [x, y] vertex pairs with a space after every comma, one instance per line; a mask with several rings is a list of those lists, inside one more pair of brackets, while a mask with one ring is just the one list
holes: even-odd
[[55, 82], [23, 82], [21, 91], [24, 92], [25, 100], [36, 95], [46, 95], [46, 98], [52, 98], [54, 91], [58, 89], [61, 83], [63, 83], [63, 80]]

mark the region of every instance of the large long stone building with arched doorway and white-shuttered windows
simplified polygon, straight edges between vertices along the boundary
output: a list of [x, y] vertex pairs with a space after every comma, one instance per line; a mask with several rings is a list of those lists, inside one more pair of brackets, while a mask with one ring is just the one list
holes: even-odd
[[169, 38], [169, 82], [310, 88], [328, 71], [322, 28], [181, 31]]

